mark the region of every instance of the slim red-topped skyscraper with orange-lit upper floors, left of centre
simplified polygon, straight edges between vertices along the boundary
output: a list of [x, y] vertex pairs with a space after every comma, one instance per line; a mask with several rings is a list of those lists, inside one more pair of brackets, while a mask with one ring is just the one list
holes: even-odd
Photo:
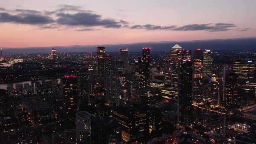
[[98, 87], [105, 87], [105, 47], [97, 47], [96, 83]]

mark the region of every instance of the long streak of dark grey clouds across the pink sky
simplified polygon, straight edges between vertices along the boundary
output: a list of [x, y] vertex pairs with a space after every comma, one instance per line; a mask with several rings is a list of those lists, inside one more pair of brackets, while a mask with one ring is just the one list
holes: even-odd
[[[59, 5], [56, 7], [56, 10], [44, 12], [26, 9], [7, 10], [0, 7], [1, 22], [36, 25], [42, 29], [55, 29], [61, 26], [79, 28], [76, 31], [92, 31], [95, 30], [93, 27], [170, 31], [201, 30], [207, 32], [223, 32], [235, 28], [240, 29], [234, 23], [189, 24], [185, 26], [158, 26], [152, 24], [130, 26], [130, 23], [125, 20], [103, 18], [102, 15], [95, 14], [90, 10], [82, 10], [82, 7], [72, 5]], [[239, 31], [248, 31], [249, 29], [244, 28]]]

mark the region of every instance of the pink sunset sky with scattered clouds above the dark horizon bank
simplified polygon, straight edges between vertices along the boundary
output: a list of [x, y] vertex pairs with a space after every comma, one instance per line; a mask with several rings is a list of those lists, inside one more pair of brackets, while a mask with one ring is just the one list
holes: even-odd
[[0, 47], [256, 36], [256, 0], [0, 0]]

